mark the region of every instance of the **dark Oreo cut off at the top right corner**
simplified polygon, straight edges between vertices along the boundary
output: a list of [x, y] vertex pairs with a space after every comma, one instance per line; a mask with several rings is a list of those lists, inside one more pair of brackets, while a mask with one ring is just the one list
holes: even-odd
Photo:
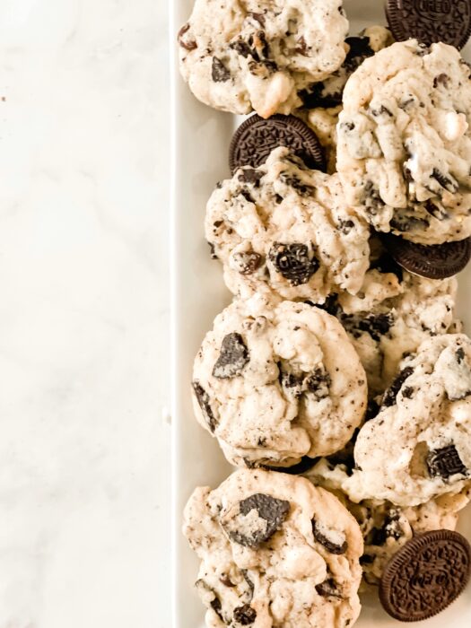
[[460, 49], [471, 35], [471, 0], [388, 0], [386, 15], [397, 41], [442, 41]]

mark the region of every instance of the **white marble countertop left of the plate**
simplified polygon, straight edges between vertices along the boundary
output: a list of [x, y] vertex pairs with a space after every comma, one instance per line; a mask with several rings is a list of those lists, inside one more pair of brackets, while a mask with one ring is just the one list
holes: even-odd
[[0, 0], [0, 628], [169, 628], [165, 0]]

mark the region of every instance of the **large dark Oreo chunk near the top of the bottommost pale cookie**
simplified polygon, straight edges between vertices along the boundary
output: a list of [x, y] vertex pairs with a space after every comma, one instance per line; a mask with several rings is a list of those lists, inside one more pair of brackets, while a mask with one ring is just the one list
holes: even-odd
[[228, 528], [226, 531], [232, 541], [245, 547], [257, 548], [282, 527], [283, 521], [290, 511], [290, 502], [278, 500], [276, 497], [264, 493], [256, 493], [242, 500], [239, 504], [241, 515], [248, 515], [251, 510], [257, 510], [258, 517], [265, 519], [265, 529], [255, 528], [250, 531], [250, 536], [243, 529]]

